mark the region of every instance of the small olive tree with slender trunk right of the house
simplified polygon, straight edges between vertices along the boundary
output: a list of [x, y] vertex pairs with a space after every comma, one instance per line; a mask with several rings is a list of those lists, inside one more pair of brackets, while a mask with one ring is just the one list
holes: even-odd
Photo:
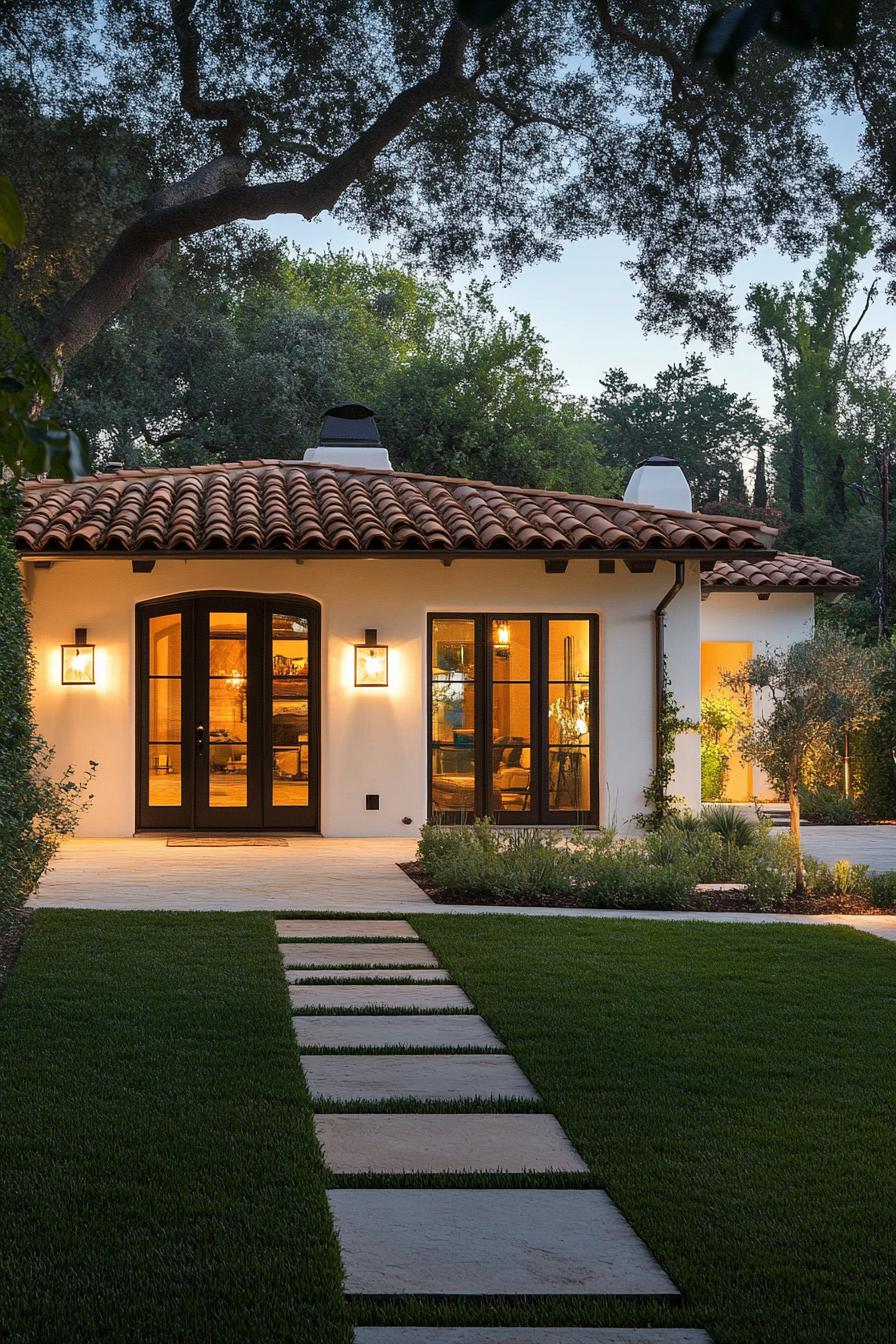
[[845, 731], [875, 718], [875, 669], [873, 650], [850, 644], [838, 630], [819, 630], [789, 649], [756, 653], [724, 676], [737, 695], [760, 692], [756, 714], [739, 731], [737, 745], [787, 800], [799, 895], [806, 891], [799, 786], [814, 750], [838, 750]]

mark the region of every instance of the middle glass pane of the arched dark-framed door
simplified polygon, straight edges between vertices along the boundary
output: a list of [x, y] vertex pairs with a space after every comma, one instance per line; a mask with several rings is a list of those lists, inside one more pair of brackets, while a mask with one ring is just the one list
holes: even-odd
[[249, 801], [246, 612], [208, 616], [208, 805], [244, 808]]

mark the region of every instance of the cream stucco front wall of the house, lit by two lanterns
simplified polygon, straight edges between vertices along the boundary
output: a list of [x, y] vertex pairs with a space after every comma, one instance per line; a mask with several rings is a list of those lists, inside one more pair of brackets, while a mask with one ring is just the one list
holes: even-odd
[[[445, 567], [438, 559], [372, 556], [302, 564], [230, 556], [160, 559], [152, 574], [133, 574], [130, 562], [117, 558], [24, 569], [40, 730], [55, 745], [60, 765], [98, 762], [82, 835], [126, 836], [134, 829], [134, 607], [200, 590], [290, 593], [320, 602], [324, 835], [408, 835], [426, 820], [429, 612], [596, 613], [602, 618], [595, 781], [600, 820], [625, 828], [642, 808], [654, 743], [652, 612], [672, 583], [670, 563], [657, 563], [653, 574], [630, 574], [622, 563], [614, 574], [599, 574], [596, 559], [571, 560], [566, 574], [545, 574], [535, 559], [465, 559]], [[689, 716], [700, 706], [700, 617], [699, 566], [689, 562], [666, 633], [674, 694]], [[97, 646], [97, 684], [63, 687], [59, 645], [79, 625], [87, 626]], [[353, 685], [352, 645], [368, 626], [376, 626], [390, 645], [387, 689]], [[673, 789], [699, 805], [696, 734], [680, 739]], [[379, 812], [365, 810], [367, 793], [380, 794]], [[406, 816], [412, 818], [410, 827], [402, 823]]]

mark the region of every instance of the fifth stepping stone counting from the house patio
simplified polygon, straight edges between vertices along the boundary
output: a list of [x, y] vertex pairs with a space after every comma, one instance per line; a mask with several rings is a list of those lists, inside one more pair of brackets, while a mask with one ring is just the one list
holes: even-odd
[[386, 1013], [363, 1017], [293, 1017], [300, 1046], [341, 1050], [347, 1046], [372, 1048], [376, 1046], [435, 1047], [459, 1046], [466, 1050], [504, 1050], [488, 1023], [476, 1013], [437, 1013], [414, 1016]]

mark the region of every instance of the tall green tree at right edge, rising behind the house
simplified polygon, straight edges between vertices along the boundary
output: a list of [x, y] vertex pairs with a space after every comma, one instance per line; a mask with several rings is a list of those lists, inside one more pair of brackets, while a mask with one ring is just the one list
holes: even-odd
[[747, 306], [774, 376], [779, 544], [860, 574], [862, 593], [836, 620], [884, 633], [892, 555], [881, 509], [891, 497], [896, 383], [883, 332], [866, 327], [879, 281], [862, 276], [875, 243], [866, 203], [848, 198], [815, 266], [798, 284], [755, 285]]

